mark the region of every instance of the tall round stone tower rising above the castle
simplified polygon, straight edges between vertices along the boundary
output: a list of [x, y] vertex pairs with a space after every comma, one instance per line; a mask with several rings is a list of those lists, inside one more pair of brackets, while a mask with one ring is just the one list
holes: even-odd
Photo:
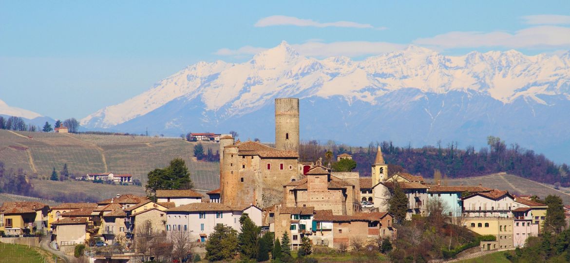
[[298, 98], [275, 98], [275, 148], [299, 151]]

